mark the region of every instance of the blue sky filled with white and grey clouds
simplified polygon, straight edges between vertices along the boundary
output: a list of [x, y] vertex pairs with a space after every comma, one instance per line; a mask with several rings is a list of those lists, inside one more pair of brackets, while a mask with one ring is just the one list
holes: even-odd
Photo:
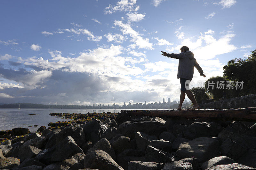
[[[255, 0], [0, 2], [0, 103], [121, 104], [178, 100], [178, 60], [206, 78], [255, 43]], [[188, 99], [187, 99], [188, 100]]]

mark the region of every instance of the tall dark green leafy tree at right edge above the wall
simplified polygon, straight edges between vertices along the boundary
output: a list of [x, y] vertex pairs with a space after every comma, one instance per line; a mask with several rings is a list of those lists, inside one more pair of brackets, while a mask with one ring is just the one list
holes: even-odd
[[236, 90], [237, 96], [256, 93], [256, 50], [251, 52], [248, 57], [235, 58], [223, 67], [224, 78], [235, 82], [244, 81], [243, 89]]

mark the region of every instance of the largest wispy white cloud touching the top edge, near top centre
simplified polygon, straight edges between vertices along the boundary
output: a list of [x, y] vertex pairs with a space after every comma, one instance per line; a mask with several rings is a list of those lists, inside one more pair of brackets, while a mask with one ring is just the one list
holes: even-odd
[[112, 14], [117, 11], [138, 11], [140, 6], [135, 6], [136, 2], [137, 0], [121, 0], [116, 3], [116, 6], [109, 4], [109, 6], [105, 8], [104, 13]]

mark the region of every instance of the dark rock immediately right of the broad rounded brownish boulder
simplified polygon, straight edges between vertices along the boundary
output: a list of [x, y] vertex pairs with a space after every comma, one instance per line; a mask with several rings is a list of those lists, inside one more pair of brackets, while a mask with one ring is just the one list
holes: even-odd
[[231, 139], [225, 140], [220, 146], [221, 155], [227, 156], [234, 160], [238, 159], [246, 151], [248, 151], [248, 148]]

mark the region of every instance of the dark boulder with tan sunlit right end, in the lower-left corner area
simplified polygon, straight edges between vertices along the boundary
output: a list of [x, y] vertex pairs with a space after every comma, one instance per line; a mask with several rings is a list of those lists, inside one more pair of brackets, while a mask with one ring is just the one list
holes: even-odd
[[20, 162], [27, 158], [34, 158], [36, 155], [42, 151], [34, 146], [21, 145], [13, 149], [12, 157], [20, 159]]

